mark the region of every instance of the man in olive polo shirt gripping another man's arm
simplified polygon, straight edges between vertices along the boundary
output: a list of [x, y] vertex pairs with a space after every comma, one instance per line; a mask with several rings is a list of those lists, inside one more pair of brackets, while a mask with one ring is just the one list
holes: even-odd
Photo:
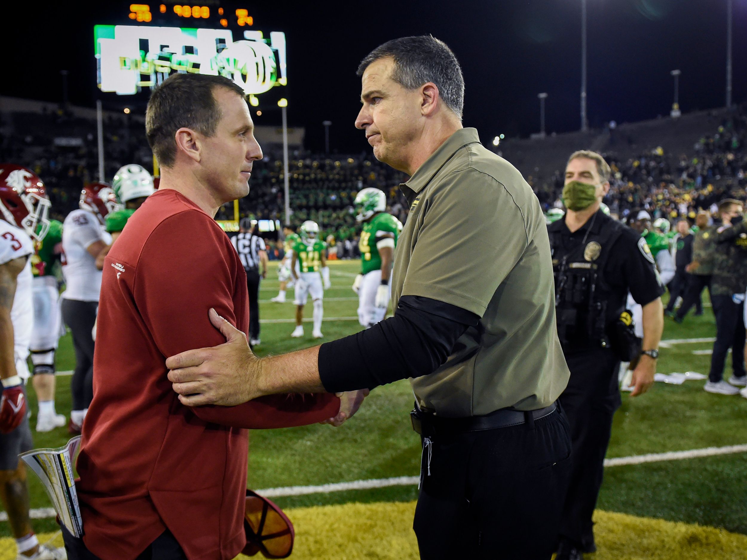
[[365, 390], [412, 378], [424, 445], [421, 558], [549, 559], [571, 442], [555, 405], [569, 373], [539, 201], [474, 128], [462, 128], [462, 71], [444, 43], [390, 41], [359, 75], [356, 127], [379, 161], [411, 175], [400, 186], [410, 212], [394, 255], [394, 317], [258, 359], [213, 313], [228, 343], [169, 358], [169, 378], [186, 405], [349, 391], [335, 424]]

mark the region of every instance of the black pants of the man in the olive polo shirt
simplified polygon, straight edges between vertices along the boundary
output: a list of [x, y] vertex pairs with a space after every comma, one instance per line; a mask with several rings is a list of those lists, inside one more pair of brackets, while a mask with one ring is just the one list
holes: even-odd
[[549, 560], [571, 467], [562, 410], [432, 439], [413, 523], [421, 559]]

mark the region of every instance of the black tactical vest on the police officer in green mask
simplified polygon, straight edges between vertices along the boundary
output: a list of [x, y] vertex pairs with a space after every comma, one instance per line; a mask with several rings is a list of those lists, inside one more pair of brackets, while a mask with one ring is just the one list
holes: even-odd
[[585, 237], [585, 240], [569, 250], [565, 249], [560, 231], [554, 231], [555, 228], [549, 231], [558, 337], [564, 348], [609, 348], [609, 317], [619, 317], [624, 311], [624, 303], [620, 309], [607, 308], [614, 294], [604, 279], [604, 267], [611, 249], [624, 228], [604, 214], [596, 219], [604, 220], [599, 233], [590, 229], [588, 234], [579, 233], [579, 237]]

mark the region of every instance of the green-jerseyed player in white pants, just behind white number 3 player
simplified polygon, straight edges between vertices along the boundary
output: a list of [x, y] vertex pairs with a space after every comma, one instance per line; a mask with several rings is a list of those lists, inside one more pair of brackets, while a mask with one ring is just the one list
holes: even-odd
[[55, 266], [62, 255], [62, 223], [49, 220], [49, 231], [35, 245], [36, 252], [31, 255], [34, 330], [29, 349], [34, 365], [34, 391], [39, 398], [37, 432], [51, 432], [66, 423], [66, 418], [55, 410], [55, 352], [64, 332], [55, 276]]

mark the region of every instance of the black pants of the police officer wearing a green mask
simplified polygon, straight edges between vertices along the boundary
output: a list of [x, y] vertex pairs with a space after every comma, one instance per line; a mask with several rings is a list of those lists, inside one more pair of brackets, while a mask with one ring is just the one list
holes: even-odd
[[571, 379], [560, 396], [573, 442], [573, 470], [565, 497], [560, 535], [584, 552], [595, 550], [592, 514], [604, 474], [612, 420], [621, 404], [619, 358], [611, 350], [565, 356]]

